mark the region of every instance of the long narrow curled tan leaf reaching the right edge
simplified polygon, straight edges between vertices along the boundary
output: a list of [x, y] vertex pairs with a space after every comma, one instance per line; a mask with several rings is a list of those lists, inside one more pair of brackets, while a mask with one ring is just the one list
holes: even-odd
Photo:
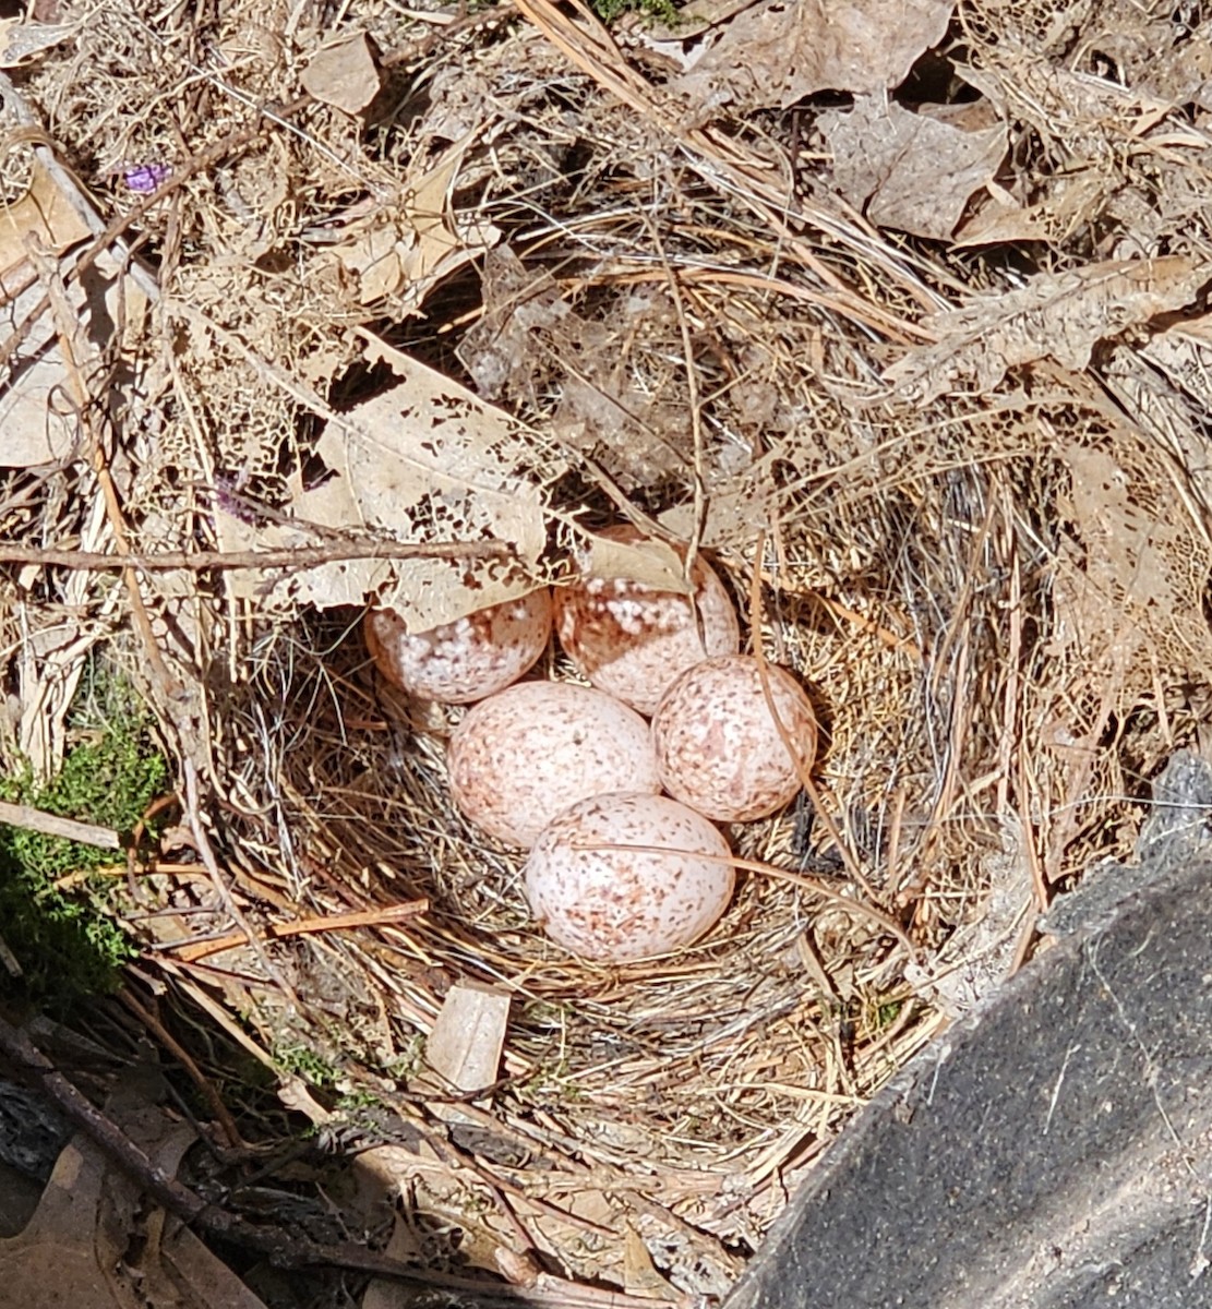
[[1097, 342], [1190, 304], [1208, 276], [1183, 255], [1039, 274], [1020, 291], [929, 315], [924, 326], [938, 342], [898, 360], [883, 380], [925, 402], [955, 390], [986, 394], [1009, 369], [1039, 359], [1080, 372]]

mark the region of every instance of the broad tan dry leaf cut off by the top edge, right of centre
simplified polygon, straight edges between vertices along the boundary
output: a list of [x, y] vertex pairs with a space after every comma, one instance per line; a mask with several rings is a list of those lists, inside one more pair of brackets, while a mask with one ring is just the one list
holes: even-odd
[[728, 102], [787, 109], [821, 90], [887, 90], [942, 39], [953, 9], [953, 0], [766, 0], [738, 13], [673, 85], [700, 111]]

